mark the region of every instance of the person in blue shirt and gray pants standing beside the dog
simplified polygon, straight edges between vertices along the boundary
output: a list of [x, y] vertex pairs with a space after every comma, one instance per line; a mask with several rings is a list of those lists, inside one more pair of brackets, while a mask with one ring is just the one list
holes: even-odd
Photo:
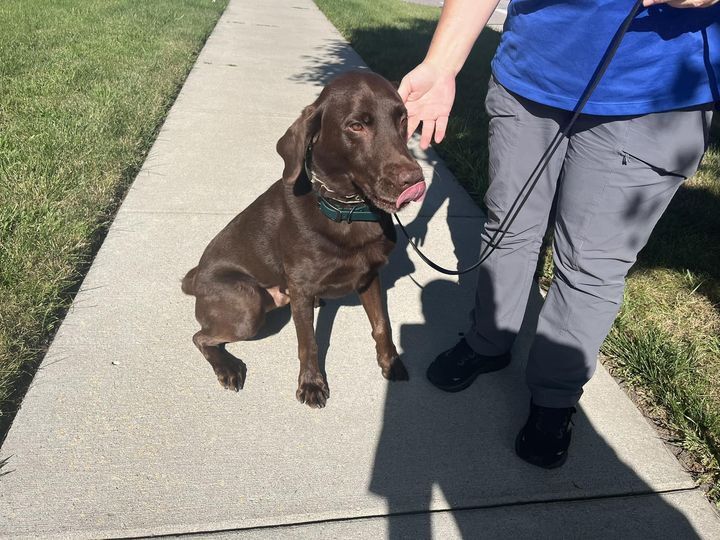
[[[571, 133], [481, 267], [470, 328], [427, 370], [457, 392], [510, 362], [553, 201], [554, 279], [526, 371], [517, 454], [561, 466], [571, 419], [622, 301], [625, 277], [697, 170], [720, 102], [718, 0], [645, 0]], [[498, 0], [446, 0], [423, 62], [399, 86], [408, 136], [443, 140], [455, 78]], [[487, 245], [591, 80], [632, 0], [512, 0], [492, 61]], [[486, 300], [494, 300], [487, 309]]]

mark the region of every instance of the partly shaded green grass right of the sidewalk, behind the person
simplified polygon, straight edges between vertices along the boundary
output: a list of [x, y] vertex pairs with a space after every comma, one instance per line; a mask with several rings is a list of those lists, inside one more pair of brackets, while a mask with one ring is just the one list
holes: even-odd
[[[399, 0], [316, 0], [375, 71], [391, 80], [422, 60], [439, 10]], [[437, 145], [482, 205], [487, 189], [484, 97], [499, 35], [485, 30], [458, 77], [448, 136]], [[716, 126], [717, 128], [717, 126]], [[684, 451], [720, 501], [720, 134], [680, 190], [628, 278], [603, 352], [611, 371]], [[550, 254], [541, 281], [552, 278]]]

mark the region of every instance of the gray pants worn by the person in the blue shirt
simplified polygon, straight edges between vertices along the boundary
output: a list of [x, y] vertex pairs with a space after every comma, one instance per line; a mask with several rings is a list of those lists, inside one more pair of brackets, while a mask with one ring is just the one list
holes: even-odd
[[[483, 246], [569, 113], [490, 81], [490, 187]], [[707, 147], [712, 105], [635, 117], [583, 115], [500, 247], [481, 267], [466, 339], [480, 354], [510, 349], [522, 322], [556, 201], [555, 277], [527, 366], [533, 401], [570, 407], [595, 371], [622, 301], [625, 276]]]

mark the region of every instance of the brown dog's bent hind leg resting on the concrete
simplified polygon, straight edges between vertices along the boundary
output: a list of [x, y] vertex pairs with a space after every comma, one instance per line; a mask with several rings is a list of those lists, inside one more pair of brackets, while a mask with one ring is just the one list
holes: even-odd
[[[199, 288], [199, 287], [198, 287]], [[250, 339], [265, 320], [267, 293], [251, 278], [206, 283], [195, 303], [201, 330], [193, 343], [210, 363], [220, 384], [240, 390], [245, 384], [245, 363], [225, 350], [227, 343]]]

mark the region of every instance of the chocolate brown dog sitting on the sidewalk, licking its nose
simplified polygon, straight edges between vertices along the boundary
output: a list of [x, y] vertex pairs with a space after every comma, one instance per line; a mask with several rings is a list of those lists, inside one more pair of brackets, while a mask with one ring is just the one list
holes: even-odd
[[393, 344], [378, 270], [395, 245], [390, 214], [425, 192], [406, 145], [407, 113], [379, 75], [333, 80], [277, 143], [282, 179], [210, 242], [182, 281], [201, 330], [193, 336], [225, 388], [238, 391], [245, 364], [225, 344], [247, 340], [265, 313], [290, 304], [300, 357], [297, 399], [323, 407], [313, 308], [357, 291], [389, 380], [408, 378]]

